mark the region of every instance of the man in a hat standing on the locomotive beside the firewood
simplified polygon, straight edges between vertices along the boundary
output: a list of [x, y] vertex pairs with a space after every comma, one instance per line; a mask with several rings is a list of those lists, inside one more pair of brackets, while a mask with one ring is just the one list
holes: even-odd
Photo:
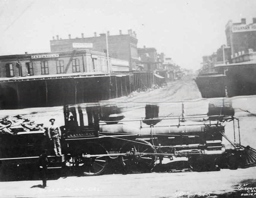
[[48, 127], [48, 136], [50, 140], [53, 140], [54, 143], [54, 152], [55, 155], [61, 155], [61, 145], [60, 145], [60, 138], [61, 138], [61, 131], [59, 126], [54, 124], [55, 119], [51, 118], [49, 120], [51, 125]]

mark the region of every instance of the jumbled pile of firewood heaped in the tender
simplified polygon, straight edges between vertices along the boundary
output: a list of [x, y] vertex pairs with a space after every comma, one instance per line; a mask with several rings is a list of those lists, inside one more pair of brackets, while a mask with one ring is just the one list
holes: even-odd
[[43, 124], [35, 124], [34, 120], [30, 120], [23, 115], [0, 119], [0, 133], [16, 135], [19, 132], [29, 131], [44, 131]]

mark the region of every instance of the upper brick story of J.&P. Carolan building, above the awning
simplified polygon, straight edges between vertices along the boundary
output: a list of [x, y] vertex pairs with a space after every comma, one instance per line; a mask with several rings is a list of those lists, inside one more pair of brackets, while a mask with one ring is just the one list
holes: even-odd
[[111, 58], [108, 68], [106, 54], [90, 50], [0, 56], [0, 78], [110, 71]]

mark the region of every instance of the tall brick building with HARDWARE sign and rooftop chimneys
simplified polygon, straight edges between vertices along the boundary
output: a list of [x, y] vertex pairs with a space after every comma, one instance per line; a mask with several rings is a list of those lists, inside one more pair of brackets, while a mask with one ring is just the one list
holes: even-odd
[[[131, 70], [138, 70], [139, 57], [137, 53], [137, 43], [136, 33], [132, 30], [128, 30], [128, 34], [122, 34], [119, 30], [119, 35], [110, 35], [107, 33], [108, 38], [108, 50], [112, 58], [122, 59], [129, 61], [129, 67]], [[51, 51], [72, 51], [74, 49], [91, 49], [94, 51], [106, 52], [106, 34], [94, 33], [94, 37], [84, 38], [84, 34], [81, 34], [81, 38], [71, 38], [69, 34], [68, 39], [56, 39], [50, 41]]]

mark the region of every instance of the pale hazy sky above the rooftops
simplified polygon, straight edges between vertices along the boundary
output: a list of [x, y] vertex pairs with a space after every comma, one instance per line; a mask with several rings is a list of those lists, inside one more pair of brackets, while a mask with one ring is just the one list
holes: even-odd
[[183, 68], [226, 44], [228, 20], [252, 23], [255, 0], [0, 0], [0, 55], [50, 52], [50, 40], [132, 29]]

